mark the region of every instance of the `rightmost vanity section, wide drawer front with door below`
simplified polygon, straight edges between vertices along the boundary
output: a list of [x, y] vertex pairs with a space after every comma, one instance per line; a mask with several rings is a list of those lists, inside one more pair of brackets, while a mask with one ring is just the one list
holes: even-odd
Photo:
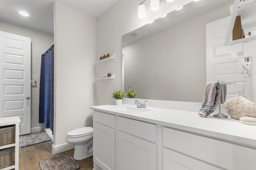
[[255, 170], [256, 150], [163, 127], [164, 170]]

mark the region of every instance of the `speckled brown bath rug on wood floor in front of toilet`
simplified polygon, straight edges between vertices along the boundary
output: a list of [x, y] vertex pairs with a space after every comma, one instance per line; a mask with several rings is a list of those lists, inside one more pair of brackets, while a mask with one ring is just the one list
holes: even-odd
[[41, 170], [77, 170], [80, 168], [79, 164], [67, 152], [41, 160], [38, 164]]

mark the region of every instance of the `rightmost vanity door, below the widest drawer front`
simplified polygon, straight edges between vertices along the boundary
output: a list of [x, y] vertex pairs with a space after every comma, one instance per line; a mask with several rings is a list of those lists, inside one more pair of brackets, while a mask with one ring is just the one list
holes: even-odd
[[196, 160], [170, 149], [163, 149], [164, 170], [221, 170], [216, 166]]

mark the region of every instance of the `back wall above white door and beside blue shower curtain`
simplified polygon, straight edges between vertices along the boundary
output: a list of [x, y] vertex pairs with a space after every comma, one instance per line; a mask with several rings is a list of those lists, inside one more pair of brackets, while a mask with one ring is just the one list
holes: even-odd
[[10, 23], [0, 21], [0, 30], [31, 38], [31, 80], [36, 80], [37, 86], [31, 88], [31, 132], [43, 130], [39, 123], [39, 87], [41, 55], [50, 48], [54, 41], [53, 35], [34, 31]]

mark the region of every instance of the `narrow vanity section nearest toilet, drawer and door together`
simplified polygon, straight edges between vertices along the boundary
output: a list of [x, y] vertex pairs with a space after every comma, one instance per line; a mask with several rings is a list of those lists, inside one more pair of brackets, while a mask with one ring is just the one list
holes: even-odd
[[94, 170], [116, 169], [116, 130], [114, 128], [115, 115], [93, 112]]

